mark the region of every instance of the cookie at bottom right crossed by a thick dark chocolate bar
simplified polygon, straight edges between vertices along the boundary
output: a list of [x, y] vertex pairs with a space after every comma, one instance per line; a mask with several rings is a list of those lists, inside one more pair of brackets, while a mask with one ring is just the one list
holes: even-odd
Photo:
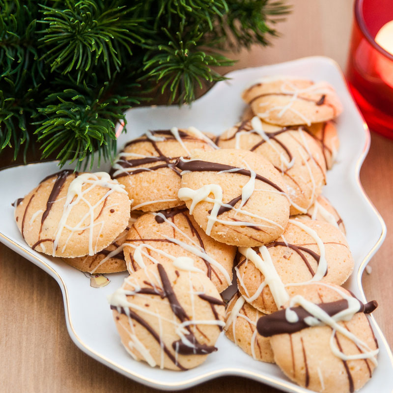
[[316, 282], [293, 287], [286, 306], [289, 313], [277, 311], [257, 323], [285, 375], [315, 392], [362, 388], [377, 364], [378, 343], [365, 315], [376, 302], [364, 305], [344, 288]]

